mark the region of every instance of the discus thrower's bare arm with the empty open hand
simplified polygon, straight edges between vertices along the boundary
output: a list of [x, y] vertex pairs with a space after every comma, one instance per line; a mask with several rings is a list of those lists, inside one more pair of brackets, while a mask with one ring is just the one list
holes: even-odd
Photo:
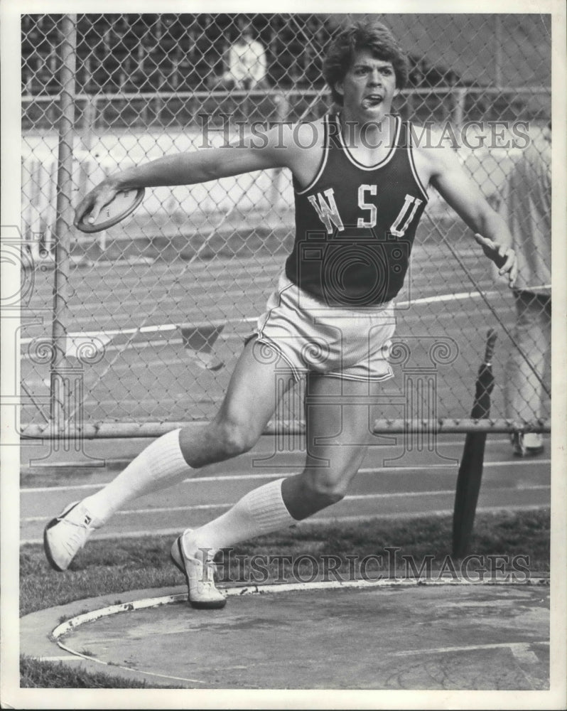
[[492, 210], [479, 188], [465, 174], [457, 156], [450, 149], [429, 149], [431, 185], [475, 232], [475, 240], [485, 255], [507, 274], [509, 286], [517, 277], [517, 261], [512, 250], [512, 235], [502, 217]]

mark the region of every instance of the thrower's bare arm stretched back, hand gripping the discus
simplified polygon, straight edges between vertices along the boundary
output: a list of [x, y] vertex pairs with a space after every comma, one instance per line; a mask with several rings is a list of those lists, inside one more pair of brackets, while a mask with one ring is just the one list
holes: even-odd
[[[289, 129], [287, 129], [289, 130]], [[157, 186], [194, 185], [217, 178], [251, 173], [269, 168], [289, 167], [286, 137], [277, 128], [266, 132], [261, 140], [247, 145], [208, 148], [172, 156], [163, 156], [141, 166], [134, 166], [105, 178], [75, 210], [75, 226], [83, 215], [94, 221], [104, 205], [119, 190]]]

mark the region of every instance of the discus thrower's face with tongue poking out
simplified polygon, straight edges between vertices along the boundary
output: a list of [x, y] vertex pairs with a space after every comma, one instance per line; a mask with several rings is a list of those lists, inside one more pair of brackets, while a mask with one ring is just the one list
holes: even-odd
[[347, 112], [377, 119], [390, 112], [396, 93], [392, 62], [375, 58], [368, 50], [357, 52], [345, 78], [336, 85]]

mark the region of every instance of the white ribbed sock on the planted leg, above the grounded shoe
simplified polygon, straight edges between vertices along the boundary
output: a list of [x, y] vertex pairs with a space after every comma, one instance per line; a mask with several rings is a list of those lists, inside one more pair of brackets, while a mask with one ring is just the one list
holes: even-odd
[[189, 555], [201, 548], [217, 550], [297, 523], [281, 498], [282, 481], [249, 491], [226, 513], [195, 528], [185, 536], [185, 550]]

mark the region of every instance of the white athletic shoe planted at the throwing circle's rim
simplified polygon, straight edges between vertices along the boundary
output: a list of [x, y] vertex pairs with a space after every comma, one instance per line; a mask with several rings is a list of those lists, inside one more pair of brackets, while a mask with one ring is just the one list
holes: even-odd
[[215, 563], [202, 550], [195, 555], [187, 555], [183, 547], [183, 536], [191, 533], [185, 530], [171, 546], [171, 560], [185, 575], [189, 590], [188, 602], [200, 610], [220, 609], [227, 604], [225, 596], [215, 587]]

